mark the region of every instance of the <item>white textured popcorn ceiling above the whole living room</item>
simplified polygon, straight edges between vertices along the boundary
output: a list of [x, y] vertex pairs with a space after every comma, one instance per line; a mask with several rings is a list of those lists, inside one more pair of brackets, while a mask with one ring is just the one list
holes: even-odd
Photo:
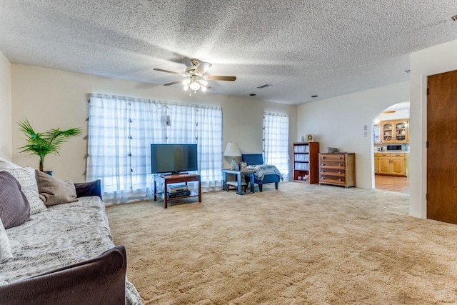
[[180, 76], [154, 68], [197, 58], [237, 76], [204, 94], [302, 104], [408, 80], [408, 54], [457, 39], [456, 14], [456, 0], [0, 0], [0, 51], [155, 85]]

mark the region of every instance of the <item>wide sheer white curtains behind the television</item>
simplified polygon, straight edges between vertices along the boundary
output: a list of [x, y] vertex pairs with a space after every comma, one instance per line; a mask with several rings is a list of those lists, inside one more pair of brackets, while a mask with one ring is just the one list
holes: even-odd
[[[101, 179], [106, 202], [146, 199], [153, 186], [151, 144], [196, 143], [199, 164], [219, 157], [219, 164], [212, 162], [216, 167], [204, 169], [202, 187], [208, 190], [220, 186], [222, 111], [220, 107], [207, 108], [208, 118], [199, 116], [206, 106], [91, 94], [86, 179]], [[212, 123], [207, 124], [208, 120]], [[207, 146], [206, 142], [217, 147]]]

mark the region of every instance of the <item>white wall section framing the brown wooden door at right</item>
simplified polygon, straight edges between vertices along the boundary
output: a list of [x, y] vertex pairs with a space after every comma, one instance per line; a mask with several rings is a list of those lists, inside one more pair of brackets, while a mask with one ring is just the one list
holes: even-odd
[[[411, 54], [411, 204], [409, 214], [427, 216], [427, 76], [457, 70], [457, 40]], [[455, 123], [454, 123], [455, 124]]]

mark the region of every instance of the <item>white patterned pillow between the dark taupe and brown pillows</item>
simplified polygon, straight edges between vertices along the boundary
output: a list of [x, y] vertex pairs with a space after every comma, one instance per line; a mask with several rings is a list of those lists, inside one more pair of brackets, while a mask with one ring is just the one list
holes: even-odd
[[35, 169], [31, 167], [20, 167], [19, 169], [6, 169], [14, 178], [21, 184], [21, 190], [26, 195], [30, 203], [30, 214], [36, 214], [42, 211], [47, 211], [43, 201], [41, 201], [38, 193], [38, 185], [35, 179]]

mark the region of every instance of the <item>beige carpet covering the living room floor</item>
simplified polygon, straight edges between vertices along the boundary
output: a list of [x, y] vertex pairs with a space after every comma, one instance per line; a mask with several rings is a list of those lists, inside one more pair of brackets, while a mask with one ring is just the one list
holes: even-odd
[[457, 226], [408, 202], [281, 182], [106, 213], [145, 304], [457, 304]]

